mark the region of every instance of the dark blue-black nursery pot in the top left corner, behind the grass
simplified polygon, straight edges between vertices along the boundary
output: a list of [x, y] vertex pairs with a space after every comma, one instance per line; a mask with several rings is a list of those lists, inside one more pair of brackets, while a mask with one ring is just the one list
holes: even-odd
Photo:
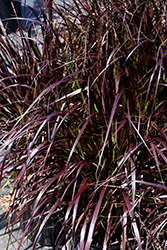
[[[21, 2], [0, 0], [0, 18], [2, 19], [3, 25], [7, 28], [7, 32], [15, 32], [18, 27], [18, 22], [15, 19], [15, 11], [18, 17], [21, 17]], [[12, 20], [4, 20], [7, 18], [14, 18]]]

